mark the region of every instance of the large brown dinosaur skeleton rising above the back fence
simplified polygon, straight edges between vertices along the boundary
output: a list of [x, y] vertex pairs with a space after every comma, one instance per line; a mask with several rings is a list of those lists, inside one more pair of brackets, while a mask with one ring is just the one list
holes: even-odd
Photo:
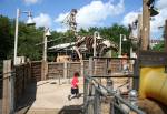
[[[86, 45], [88, 52], [92, 52], [94, 49], [94, 37], [80, 37], [77, 33], [77, 22], [76, 22], [76, 15], [77, 15], [77, 9], [72, 9], [71, 12], [65, 18], [62, 23], [67, 24], [69, 27], [69, 30], [71, 30], [76, 37], [76, 43], [75, 43], [75, 51], [77, 52], [80, 60], [82, 60], [81, 55], [81, 45]], [[118, 45], [115, 42], [107, 41], [105, 39], [97, 39], [96, 40], [96, 52], [99, 54], [99, 56], [102, 56], [105, 52], [108, 50], [115, 50], [118, 51]]]

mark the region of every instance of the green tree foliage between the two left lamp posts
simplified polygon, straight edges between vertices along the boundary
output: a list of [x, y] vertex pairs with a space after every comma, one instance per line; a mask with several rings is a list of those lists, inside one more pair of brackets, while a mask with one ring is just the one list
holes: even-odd
[[36, 45], [43, 40], [43, 29], [27, 27], [24, 23], [19, 23], [18, 37], [18, 55], [27, 56], [30, 60], [41, 60], [42, 46]]

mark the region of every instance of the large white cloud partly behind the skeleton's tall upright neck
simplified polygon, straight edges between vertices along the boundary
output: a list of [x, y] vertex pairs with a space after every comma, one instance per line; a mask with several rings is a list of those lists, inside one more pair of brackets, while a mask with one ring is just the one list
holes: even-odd
[[[114, 0], [108, 2], [91, 1], [89, 4], [84, 6], [78, 10], [77, 23], [78, 28], [100, 27], [107, 18], [118, 15], [124, 12], [124, 0], [120, 0], [117, 4], [114, 4]], [[68, 13], [60, 13], [55, 22], [61, 22]]]

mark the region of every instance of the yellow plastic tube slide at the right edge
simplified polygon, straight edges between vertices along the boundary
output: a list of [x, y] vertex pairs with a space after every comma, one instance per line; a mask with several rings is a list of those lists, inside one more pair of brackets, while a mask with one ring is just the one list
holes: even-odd
[[167, 73], [165, 73], [165, 68], [141, 68], [139, 97], [150, 97], [167, 105]]

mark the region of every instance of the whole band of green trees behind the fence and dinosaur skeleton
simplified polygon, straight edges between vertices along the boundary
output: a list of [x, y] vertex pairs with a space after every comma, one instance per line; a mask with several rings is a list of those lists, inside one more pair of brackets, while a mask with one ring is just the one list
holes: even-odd
[[[13, 58], [13, 42], [14, 42], [14, 27], [16, 21], [0, 15], [0, 60]], [[36, 45], [43, 41], [45, 28], [27, 27], [23, 22], [19, 22], [18, 32], [18, 56], [27, 56], [30, 60], [41, 60], [43, 44]], [[119, 45], [119, 35], [129, 35], [129, 31], [124, 25], [114, 24], [111, 27], [96, 28], [91, 27], [88, 30], [80, 29], [79, 35], [94, 35], [94, 32], [98, 31], [105, 39], [116, 42]], [[60, 44], [73, 42], [75, 35], [71, 31], [65, 33], [52, 31], [51, 37], [48, 38], [48, 48]], [[122, 42], [122, 52], [129, 52], [130, 42]], [[6, 50], [4, 50], [6, 49]], [[117, 53], [115, 53], [117, 55]], [[48, 53], [48, 60], [53, 60], [55, 55]]]

